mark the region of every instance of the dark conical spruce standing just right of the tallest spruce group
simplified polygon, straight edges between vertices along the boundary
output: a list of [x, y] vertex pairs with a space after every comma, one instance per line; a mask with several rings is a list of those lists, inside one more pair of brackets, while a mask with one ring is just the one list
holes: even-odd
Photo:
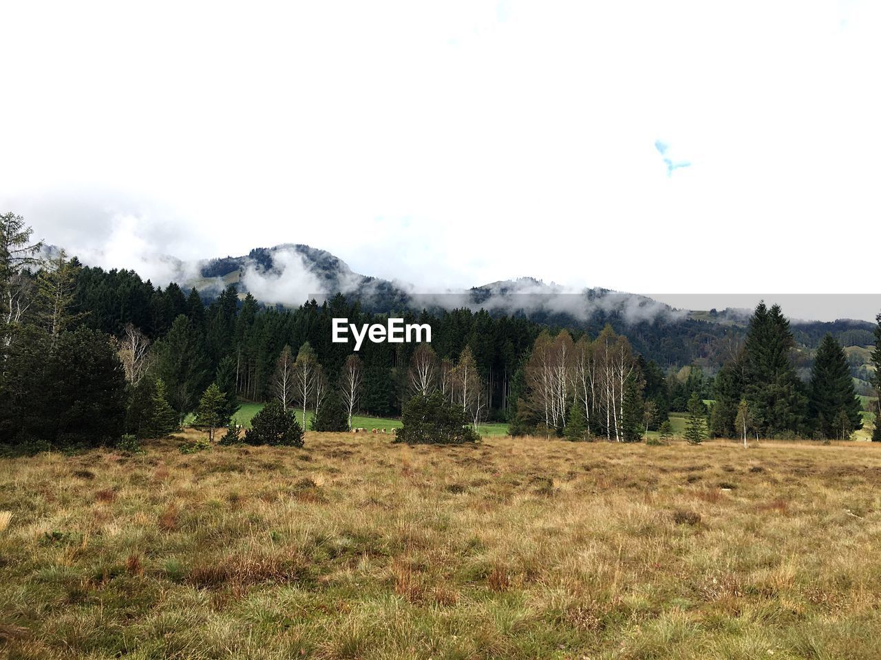
[[[811, 423], [821, 436], [850, 436], [862, 429], [862, 404], [850, 377], [848, 357], [832, 334], [825, 335], [814, 357], [809, 402]], [[844, 419], [847, 425], [842, 425]]]

